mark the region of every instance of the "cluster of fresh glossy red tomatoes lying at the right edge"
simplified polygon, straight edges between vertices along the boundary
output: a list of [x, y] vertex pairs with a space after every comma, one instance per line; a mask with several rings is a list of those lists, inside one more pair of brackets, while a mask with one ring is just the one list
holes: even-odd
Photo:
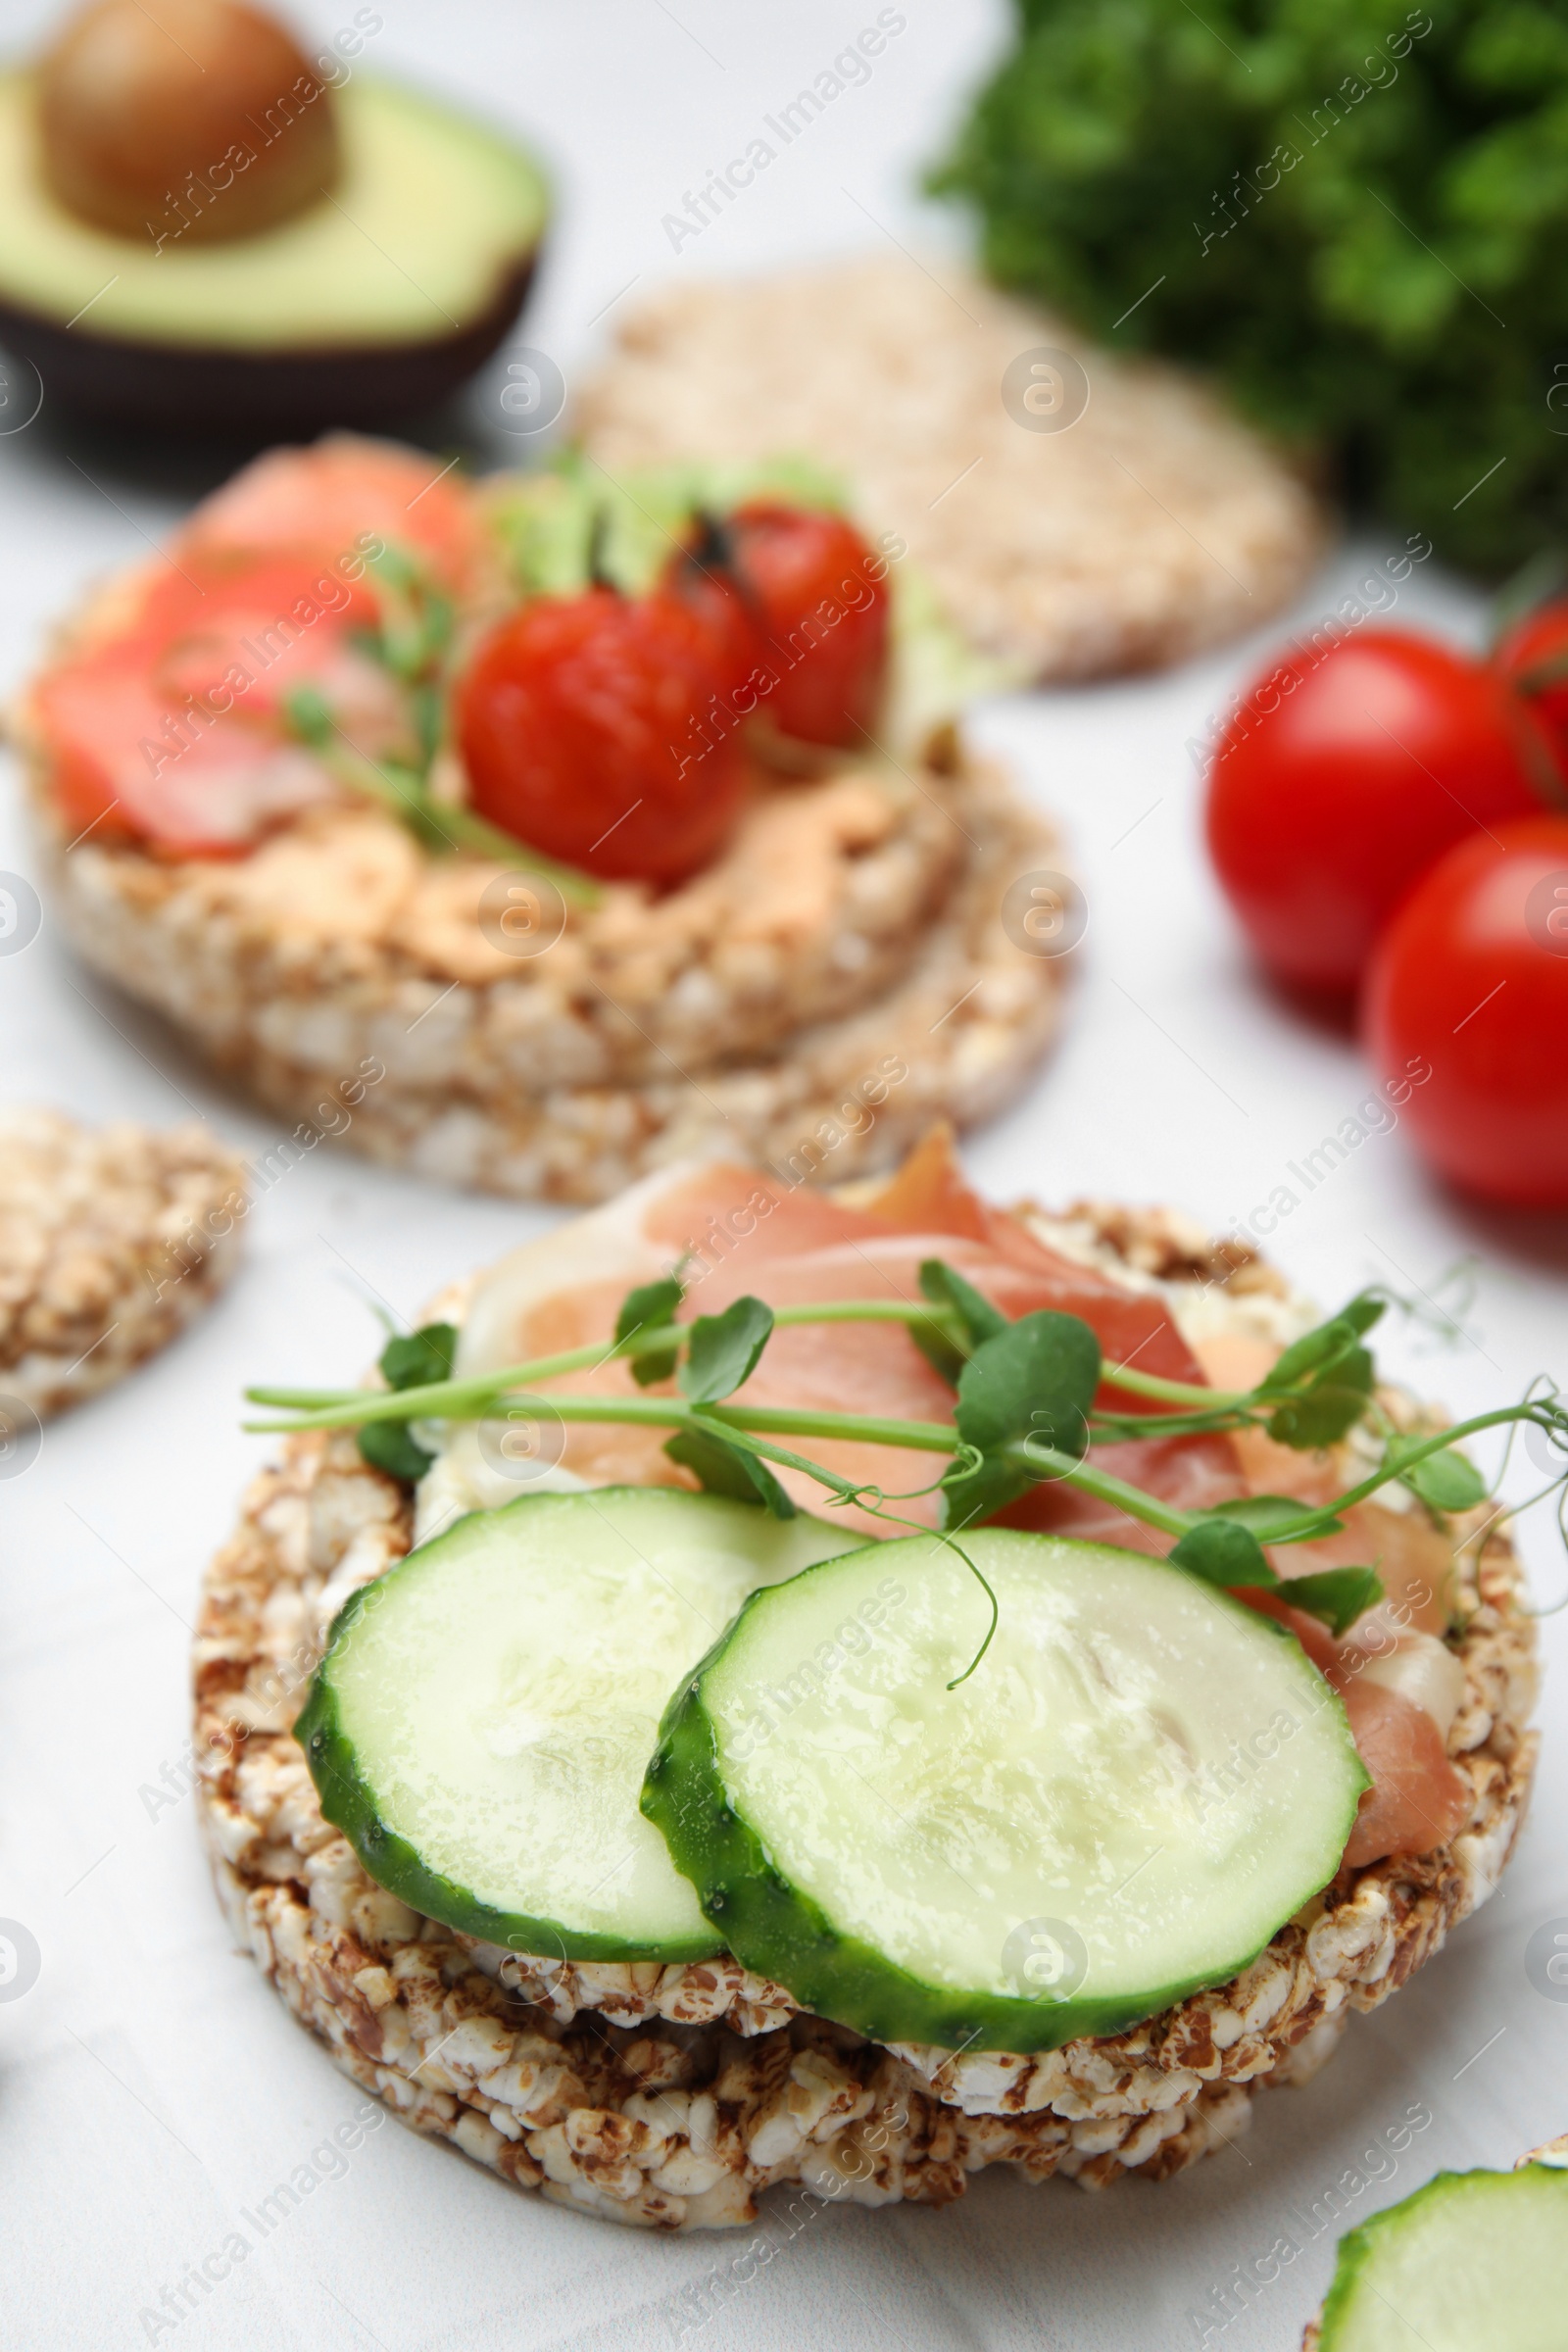
[[1568, 602], [1488, 661], [1363, 628], [1260, 677], [1208, 771], [1208, 847], [1260, 962], [1356, 997], [1453, 1183], [1568, 1207]]

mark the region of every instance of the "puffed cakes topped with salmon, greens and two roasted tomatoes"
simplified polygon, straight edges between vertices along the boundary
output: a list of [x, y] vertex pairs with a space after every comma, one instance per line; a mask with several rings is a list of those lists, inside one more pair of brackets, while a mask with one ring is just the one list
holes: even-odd
[[1060, 983], [1001, 901], [1060, 854], [825, 480], [268, 452], [12, 710], [78, 950], [270, 1105], [369, 1077], [353, 1148], [501, 1192], [792, 1152], [872, 1047], [917, 1075], [844, 1169], [990, 1110]]

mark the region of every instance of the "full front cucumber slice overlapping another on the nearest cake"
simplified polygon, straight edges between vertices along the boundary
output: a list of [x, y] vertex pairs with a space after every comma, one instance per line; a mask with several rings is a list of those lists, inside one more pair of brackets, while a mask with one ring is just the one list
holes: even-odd
[[978, 1529], [757, 1592], [642, 1809], [729, 1950], [877, 2042], [1056, 2049], [1246, 1966], [1368, 1785], [1269, 1618], [1143, 1552]]

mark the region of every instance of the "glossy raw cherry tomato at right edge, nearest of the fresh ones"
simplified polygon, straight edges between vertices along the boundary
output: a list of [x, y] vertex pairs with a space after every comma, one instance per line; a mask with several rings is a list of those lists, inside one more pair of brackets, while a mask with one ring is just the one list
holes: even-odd
[[1385, 1080], [1415, 1080], [1403, 1117], [1443, 1176], [1568, 1207], [1568, 818], [1476, 833], [1418, 882], [1373, 955], [1366, 1035]]

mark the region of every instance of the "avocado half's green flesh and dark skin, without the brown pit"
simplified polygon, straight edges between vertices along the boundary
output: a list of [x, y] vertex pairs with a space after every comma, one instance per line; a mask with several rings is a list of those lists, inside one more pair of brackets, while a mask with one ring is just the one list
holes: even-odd
[[89, 228], [38, 167], [31, 71], [0, 73], [0, 343], [42, 397], [200, 435], [378, 426], [433, 407], [505, 339], [548, 219], [503, 134], [357, 75], [336, 92], [343, 174], [233, 242], [162, 252]]

